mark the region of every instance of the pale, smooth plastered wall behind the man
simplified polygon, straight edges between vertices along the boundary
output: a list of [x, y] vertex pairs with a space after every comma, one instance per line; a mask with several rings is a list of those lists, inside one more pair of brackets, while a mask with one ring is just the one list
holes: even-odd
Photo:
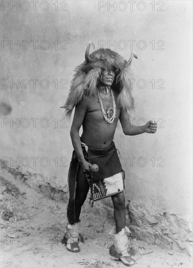
[[[133, 124], [155, 118], [159, 128], [154, 135], [125, 136], [117, 127], [125, 195], [139, 230], [140, 224], [156, 221], [157, 232], [173, 241], [171, 228], [164, 234], [157, 216], [168, 217], [164, 226], [173, 217], [176, 241], [180, 238], [181, 248], [188, 250], [191, 10], [191, 1], [1, 1], [1, 157], [6, 165], [34, 185], [49, 183], [66, 191], [71, 121], [59, 107], [73, 70], [84, 60], [89, 40], [96, 49], [108, 47], [126, 59], [133, 49], [138, 60], [132, 62], [135, 110], [130, 117]], [[149, 222], [137, 217], [139, 211]]]

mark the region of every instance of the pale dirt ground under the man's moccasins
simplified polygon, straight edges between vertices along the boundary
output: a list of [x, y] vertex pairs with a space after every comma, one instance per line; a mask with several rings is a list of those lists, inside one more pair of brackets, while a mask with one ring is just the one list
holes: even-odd
[[[98, 208], [86, 204], [80, 223], [84, 243], [79, 253], [72, 253], [61, 242], [67, 226], [66, 202], [45, 197], [6, 170], [1, 173], [0, 199], [1, 268], [126, 267], [109, 255], [113, 214], [104, 217]], [[136, 268], [193, 267], [184, 253], [142, 245], [136, 239], [132, 246]]]

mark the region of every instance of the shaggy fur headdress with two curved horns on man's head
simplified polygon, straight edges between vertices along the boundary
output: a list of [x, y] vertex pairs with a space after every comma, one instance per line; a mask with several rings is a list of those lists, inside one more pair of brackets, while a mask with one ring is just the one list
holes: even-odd
[[131, 51], [130, 59], [127, 61], [117, 52], [104, 48], [99, 48], [89, 55], [90, 45], [91, 42], [89, 42], [85, 52], [85, 61], [75, 69], [76, 73], [71, 83], [68, 98], [65, 105], [61, 107], [66, 109], [66, 116], [71, 116], [73, 108], [85, 94], [91, 96], [96, 94], [101, 72], [112, 68], [115, 71], [115, 77], [111, 88], [119, 94], [118, 103], [123, 109], [132, 109], [134, 101], [130, 86], [130, 64], [132, 58], [137, 58], [137, 56]]

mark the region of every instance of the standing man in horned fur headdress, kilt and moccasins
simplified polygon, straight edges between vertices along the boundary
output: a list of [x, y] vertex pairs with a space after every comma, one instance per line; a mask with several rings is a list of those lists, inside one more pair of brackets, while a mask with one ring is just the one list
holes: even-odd
[[[133, 126], [128, 110], [133, 108], [130, 92], [130, 64], [118, 53], [100, 48], [89, 55], [90, 43], [86, 49], [85, 61], [76, 68], [69, 96], [62, 108], [70, 117], [75, 107], [70, 130], [74, 147], [68, 173], [69, 202], [67, 207], [66, 246], [69, 251], [79, 252], [80, 211], [89, 188], [91, 202], [112, 197], [114, 206], [114, 249], [119, 259], [132, 266], [134, 260], [127, 251], [128, 238], [125, 226], [126, 211], [124, 197], [125, 173], [113, 142], [113, 136], [120, 120], [125, 135], [156, 133], [157, 123], [148, 121], [143, 127]], [[80, 137], [79, 131], [83, 132]], [[98, 172], [91, 172], [97, 164]], [[121, 240], [122, 238], [122, 240]], [[125, 242], [120, 242], [125, 241]]]

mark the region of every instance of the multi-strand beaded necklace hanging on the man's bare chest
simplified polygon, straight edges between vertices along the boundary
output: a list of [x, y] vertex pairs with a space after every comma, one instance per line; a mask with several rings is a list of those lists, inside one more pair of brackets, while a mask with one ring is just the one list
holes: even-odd
[[[113, 121], [114, 121], [114, 118], [116, 117], [115, 116], [116, 104], [115, 104], [115, 101], [114, 101], [114, 96], [113, 96], [113, 93], [112, 93], [112, 89], [110, 88], [110, 102], [109, 102], [109, 105], [108, 105], [107, 109], [104, 108], [104, 104], [103, 104], [101, 96], [100, 96], [100, 94], [98, 92], [98, 88], [97, 88], [97, 95], [98, 95], [98, 100], [99, 100], [99, 103], [100, 103], [100, 108], [101, 108], [101, 111], [102, 111], [102, 115], [104, 116], [105, 120], [108, 123], [112, 124]], [[112, 102], [113, 102], [113, 107], [110, 107], [111, 98], [112, 98]], [[107, 112], [105, 110], [107, 110]], [[110, 115], [110, 111], [113, 111], [112, 115]]]

